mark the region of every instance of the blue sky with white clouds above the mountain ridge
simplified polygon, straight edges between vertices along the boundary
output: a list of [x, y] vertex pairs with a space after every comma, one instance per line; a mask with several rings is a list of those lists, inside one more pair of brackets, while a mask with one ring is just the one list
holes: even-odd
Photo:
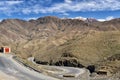
[[120, 0], [0, 0], [0, 21], [44, 16], [111, 20], [120, 18]]

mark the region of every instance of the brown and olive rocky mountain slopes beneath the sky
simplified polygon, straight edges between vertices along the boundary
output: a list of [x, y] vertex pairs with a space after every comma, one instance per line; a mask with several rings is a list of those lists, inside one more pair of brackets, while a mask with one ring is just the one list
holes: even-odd
[[0, 22], [0, 46], [10, 46], [17, 56], [45, 65], [107, 66], [116, 74], [120, 65], [120, 19], [5, 19]]

